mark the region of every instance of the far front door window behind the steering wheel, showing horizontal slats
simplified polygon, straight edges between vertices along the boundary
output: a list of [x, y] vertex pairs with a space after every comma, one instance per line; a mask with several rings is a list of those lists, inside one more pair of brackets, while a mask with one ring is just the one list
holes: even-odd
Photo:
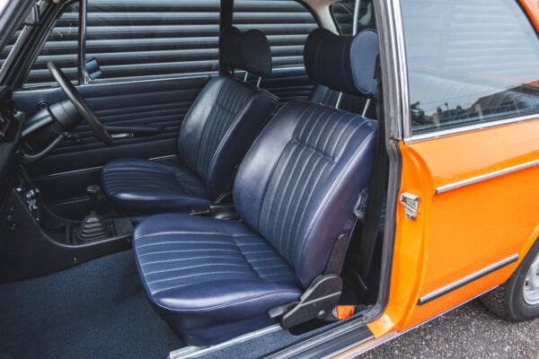
[[[94, 83], [215, 74], [219, 1], [88, 0], [85, 59], [97, 59]], [[74, 82], [77, 75], [78, 4], [58, 20], [23, 87], [56, 86], [47, 62]]]

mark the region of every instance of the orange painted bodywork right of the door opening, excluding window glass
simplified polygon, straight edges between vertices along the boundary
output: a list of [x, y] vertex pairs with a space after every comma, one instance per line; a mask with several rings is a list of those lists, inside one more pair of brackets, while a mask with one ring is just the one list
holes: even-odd
[[[539, 29], [538, 3], [522, 5]], [[418, 214], [407, 219], [404, 207], [392, 204], [397, 212], [389, 302], [368, 324], [375, 339], [348, 354], [367, 351], [508, 280], [539, 238], [538, 139], [539, 119], [528, 118], [400, 142], [400, 195], [420, 197]]]

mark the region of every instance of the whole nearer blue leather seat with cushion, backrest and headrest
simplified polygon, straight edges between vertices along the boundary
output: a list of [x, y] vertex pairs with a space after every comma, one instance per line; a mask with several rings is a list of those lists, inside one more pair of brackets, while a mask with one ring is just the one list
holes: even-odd
[[[315, 81], [370, 96], [376, 57], [373, 31], [351, 38], [317, 30], [305, 46]], [[234, 204], [242, 222], [168, 214], [137, 225], [137, 267], [155, 310], [195, 346], [274, 323], [268, 312], [299, 301], [351, 231], [375, 152], [376, 121], [288, 102], [240, 165]]]

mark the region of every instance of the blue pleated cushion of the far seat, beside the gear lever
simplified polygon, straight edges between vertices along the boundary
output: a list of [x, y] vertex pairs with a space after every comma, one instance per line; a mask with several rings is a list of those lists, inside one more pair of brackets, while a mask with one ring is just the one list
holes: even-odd
[[102, 171], [105, 194], [129, 215], [207, 208], [210, 200], [202, 180], [183, 166], [121, 159]]

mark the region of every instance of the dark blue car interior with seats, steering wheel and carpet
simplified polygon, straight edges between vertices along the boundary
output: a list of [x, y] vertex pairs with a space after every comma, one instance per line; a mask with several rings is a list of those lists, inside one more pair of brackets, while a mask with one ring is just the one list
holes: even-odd
[[77, 83], [46, 39], [85, 2], [38, 2], [1, 75], [0, 357], [260, 357], [379, 308], [374, 7], [293, 3], [316, 20], [301, 68], [222, 1], [212, 74], [93, 82], [116, 67], [87, 56]]

